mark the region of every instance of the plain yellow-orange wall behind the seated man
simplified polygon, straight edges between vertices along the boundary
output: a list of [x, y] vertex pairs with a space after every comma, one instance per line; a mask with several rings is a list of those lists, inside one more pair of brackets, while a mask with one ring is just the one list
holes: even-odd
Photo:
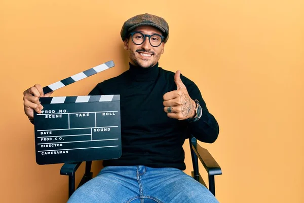
[[[62, 164], [35, 162], [23, 91], [114, 60], [112, 69], [53, 94], [86, 95], [127, 70], [121, 26], [146, 12], [170, 26], [160, 66], [195, 81], [219, 122], [218, 140], [202, 144], [222, 167], [219, 201], [304, 202], [302, 0], [1, 0], [0, 201], [67, 200]], [[188, 142], [185, 149], [189, 174]]]

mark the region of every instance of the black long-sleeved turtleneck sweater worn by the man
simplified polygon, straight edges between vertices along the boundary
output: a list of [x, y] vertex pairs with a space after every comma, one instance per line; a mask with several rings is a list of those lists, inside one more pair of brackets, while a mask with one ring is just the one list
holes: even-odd
[[146, 165], [149, 167], [176, 167], [185, 170], [182, 145], [189, 130], [198, 140], [213, 143], [219, 128], [208, 112], [200, 90], [194, 82], [180, 76], [192, 99], [198, 99], [203, 108], [200, 120], [188, 123], [167, 117], [163, 95], [176, 90], [173, 72], [158, 63], [149, 68], [130, 64], [121, 75], [105, 80], [89, 95], [120, 94], [122, 156], [104, 160], [103, 165]]

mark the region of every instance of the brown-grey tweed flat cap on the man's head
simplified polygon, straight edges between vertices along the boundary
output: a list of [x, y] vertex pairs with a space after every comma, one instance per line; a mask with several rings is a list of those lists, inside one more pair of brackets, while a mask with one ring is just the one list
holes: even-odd
[[159, 28], [165, 37], [164, 43], [166, 43], [169, 39], [169, 25], [164, 18], [159, 16], [151, 15], [148, 13], [136, 15], [130, 19], [128, 19], [122, 27], [121, 37], [124, 41], [128, 37], [128, 33], [139, 26], [142, 25], [151, 25]]

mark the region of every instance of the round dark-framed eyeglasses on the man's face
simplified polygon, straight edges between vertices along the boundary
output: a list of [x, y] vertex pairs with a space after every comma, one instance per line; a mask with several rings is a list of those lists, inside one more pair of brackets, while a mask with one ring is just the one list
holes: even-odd
[[148, 37], [150, 45], [153, 47], [160, 46], [162, 44], [163, 40], [165, 39], [164, 36], [161, 36], [158, 34], [144, 35], [143, 33], [139, 32], [139, 31], [131, 32], [130, 35], [132, 37], [133, 43], [136, 45], [141, 45], [145, 41], [146, 37]]

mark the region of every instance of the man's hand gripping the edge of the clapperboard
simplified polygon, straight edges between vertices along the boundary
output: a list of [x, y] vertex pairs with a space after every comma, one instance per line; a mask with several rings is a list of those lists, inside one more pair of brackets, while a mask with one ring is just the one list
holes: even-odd
[[37, 113], [41, 113], [41, 110], [43, 110], [43, 106], [40, 104], [39, 98], [49, 97], [52, 93], [53, 92], [43, 94], [43, 89], [40, 84], [35, 84], [23, 92], [24, 113], [29, 119], [34, 118], [34, 110]]

